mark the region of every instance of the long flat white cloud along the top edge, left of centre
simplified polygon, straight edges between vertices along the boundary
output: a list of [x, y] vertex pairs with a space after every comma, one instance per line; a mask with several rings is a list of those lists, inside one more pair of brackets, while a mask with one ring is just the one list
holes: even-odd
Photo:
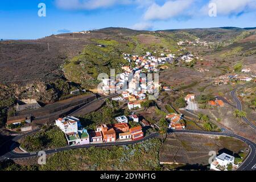
[[154, 0], [55, 0], [56, 6], [67, 10], [94, 10], [115, 5], [151, 5]]

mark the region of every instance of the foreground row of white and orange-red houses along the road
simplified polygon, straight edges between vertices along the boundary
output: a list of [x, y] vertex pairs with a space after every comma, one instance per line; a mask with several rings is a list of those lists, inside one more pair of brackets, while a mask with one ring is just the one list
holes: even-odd
[[[139, 122], [136, 115], [131, 115], [135, 122]], [[125, 116], [115, 118], [117, 123], [113, 125], [97, 126], [96, 131], [84, 129], [80, 120], [75, 117], [65, 117], [56, 120], [55, 125], [65, 133], [68, 146], [83, 145], [90, 143], [124, 142], [141, 140], [144, 137], [142, 127], [129, 127], [128, 119]], [[148, 123], [146, 123], [148, 126]], [[146, 126], [145, 125], [145, 126]]]

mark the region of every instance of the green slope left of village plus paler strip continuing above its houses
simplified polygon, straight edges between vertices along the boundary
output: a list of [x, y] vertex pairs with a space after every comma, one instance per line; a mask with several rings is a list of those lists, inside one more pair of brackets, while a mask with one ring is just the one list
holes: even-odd
[[123, 59], [122, 53], [144, 55], [146, 51], [157, 51], [155, 56], [159, 56], [166, 49], [172, 53], [176, 53], [178, 49], [174, 40], [160, 34], [127, 36], [118, 42], [107, 38], [90, 39], [90, 42], [91, 44], [86, 45], [79, 56], [67, 60], [63, 66], [68, 80], [89, 89], [97, 86], [97, 77], [100, 73], [110, 75], [110, 69], [115, 69], [115, 73], [121, 73], [121, 67], [130, 64]]

